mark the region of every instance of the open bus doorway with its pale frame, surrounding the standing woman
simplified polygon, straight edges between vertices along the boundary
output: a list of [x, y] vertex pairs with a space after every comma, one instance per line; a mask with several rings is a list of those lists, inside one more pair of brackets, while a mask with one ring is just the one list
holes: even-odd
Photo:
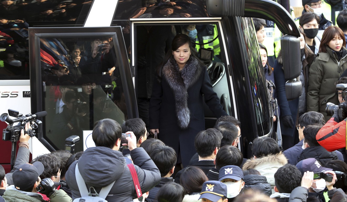
[[[179, 33], [191, 37], [195, 51], [206, 64], [213, 90], [217, 93], [223, 109], [229, 115], [237, 116], [232, 76], [228, 70], [230, 58], [220, 18], [155, 18], [155, 21], [136, 18], [130, 21], [130, 61], [135, 69], [139, 117], [146, 125], [149, 124], [149, 100], [152, 83], [156, 79], [156, 69], [165, 54], [171, 52], [172, 39]], [[207, 105], [204, 107], [204, 114], [205, 128], [213, 128], [217, 119]]]

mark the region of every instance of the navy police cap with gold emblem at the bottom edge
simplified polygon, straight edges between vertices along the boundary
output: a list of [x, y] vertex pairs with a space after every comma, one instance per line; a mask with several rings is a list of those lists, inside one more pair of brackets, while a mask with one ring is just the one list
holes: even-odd
[[212, 202], [217, 202], [223, 196], [227, 196], [227, 185], [224, 183], [212, 180], [202, 184], [199, 199], [208, 199]]

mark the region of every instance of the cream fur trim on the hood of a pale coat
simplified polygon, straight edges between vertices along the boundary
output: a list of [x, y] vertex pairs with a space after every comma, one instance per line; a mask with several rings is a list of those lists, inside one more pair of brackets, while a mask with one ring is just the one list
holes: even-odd
[[248, 159], [246, 163], [243, 165], [242, 170], [247, 170], [249, 168], [255, 168], [256, 166], [259, 165], [286, 165], [288, 163], [288, 160], [286, 156], [280, 152], [275, 155], [269, 155], [269, 156], [264, 156], [261, 158], [256, 158], [256, 159]]

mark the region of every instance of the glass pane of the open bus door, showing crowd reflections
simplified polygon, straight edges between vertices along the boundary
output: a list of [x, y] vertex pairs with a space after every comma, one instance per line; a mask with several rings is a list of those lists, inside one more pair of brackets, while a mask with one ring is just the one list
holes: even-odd
[[[112, 38], [41, 38], [41, 75], [46, 138], [63, 149], [94, 123], [128, 117]], [[83, 144], [76, 144], [76, 151]]]

